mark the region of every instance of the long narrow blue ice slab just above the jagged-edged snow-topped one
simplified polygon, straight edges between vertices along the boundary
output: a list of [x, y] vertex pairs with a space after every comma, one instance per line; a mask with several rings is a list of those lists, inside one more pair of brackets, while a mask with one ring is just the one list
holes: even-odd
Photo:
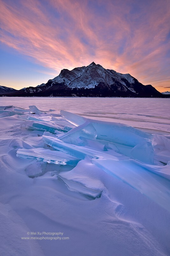
[[79, 159], [84, 159], [86, 156], [89, 156], [90, 158], [98, 158], [93, 153], [88, 152], [88, 151], [82, 149], [81, 147], [76, 147], [72, 144], [65, 143], [61, 140], [58, 140], [57, 138], [53, 138], [50, 136], [43, 135], [42, 137], [43, 137], [43, 141], [47, 145], [49, 145], [59, 151], [62, 151], [66, 154], [69, 154], [71, 156], [75, 156]]

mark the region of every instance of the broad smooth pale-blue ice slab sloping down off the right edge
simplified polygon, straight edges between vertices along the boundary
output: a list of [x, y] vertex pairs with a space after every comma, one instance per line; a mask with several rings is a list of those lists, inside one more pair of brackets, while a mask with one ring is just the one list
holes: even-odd
[[141, 166], [132, 159], [123, 161], [92, 159], [92, 162], [170, 211], [169, 180], [148, 171], [147, 166]]

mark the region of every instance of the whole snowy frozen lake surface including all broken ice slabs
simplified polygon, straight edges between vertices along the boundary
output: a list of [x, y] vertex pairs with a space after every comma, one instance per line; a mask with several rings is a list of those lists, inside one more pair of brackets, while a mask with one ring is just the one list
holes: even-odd
[[170, 255], [169, 103], [1, 98], [1, 255]]

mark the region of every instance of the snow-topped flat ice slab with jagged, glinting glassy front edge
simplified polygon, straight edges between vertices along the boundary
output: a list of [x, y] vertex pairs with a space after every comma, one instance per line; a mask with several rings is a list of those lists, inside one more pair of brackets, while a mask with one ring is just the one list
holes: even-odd
[[45, 148], [19, 148], [17, 151], [17, 156], [26, 159], [36, 159], [40, 162], [62, 165], [76, 165], [80, 161], [80, 159], [74, 156]]

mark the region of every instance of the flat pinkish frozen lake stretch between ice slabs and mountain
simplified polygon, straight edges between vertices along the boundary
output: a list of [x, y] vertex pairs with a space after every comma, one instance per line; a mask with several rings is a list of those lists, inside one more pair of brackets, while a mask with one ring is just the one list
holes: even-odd
[[92, 119], [147, 129], [147, 132], [170, 133], [170, 99], [4, 97], [0, 105], [20, 108], [36, 105], [45, 111], [53, 109], [52, 113], [63, 109]]

